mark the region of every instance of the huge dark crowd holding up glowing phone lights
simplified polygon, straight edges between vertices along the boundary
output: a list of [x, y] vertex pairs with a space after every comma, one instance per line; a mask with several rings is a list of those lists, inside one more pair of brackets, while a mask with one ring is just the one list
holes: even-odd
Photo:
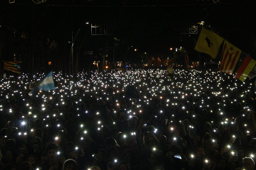
[[1, 170], [254, 170], [253, 84], [221, 72], [53, 73], [0, 81]]

